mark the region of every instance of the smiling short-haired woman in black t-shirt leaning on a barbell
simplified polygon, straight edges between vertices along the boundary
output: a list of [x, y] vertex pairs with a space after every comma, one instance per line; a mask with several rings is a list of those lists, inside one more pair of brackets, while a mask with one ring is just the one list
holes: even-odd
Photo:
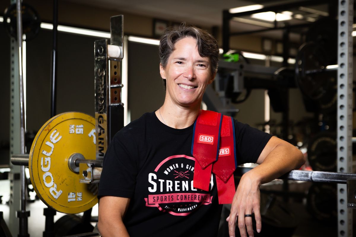
[[[216, 177], [211, 175], [207, 191], [194, 187], [192, 139], [205, 88], [217, 71], [218, 44], [207, 32], [182, 25], [162, 36], [159, 56], [164, 103], [111, 141], [100, 179], [98, 228], [103, 236], [216, 236]], [[261, 231], [259, 186], [300, 167], [304, 158], [288, 142], [236, 121], [234, 126], [238, 165], [261, 165], [241, 177], [227, 218], [229, 234], [238, 225], [241, 236], [253, 236], [252, 217]]]

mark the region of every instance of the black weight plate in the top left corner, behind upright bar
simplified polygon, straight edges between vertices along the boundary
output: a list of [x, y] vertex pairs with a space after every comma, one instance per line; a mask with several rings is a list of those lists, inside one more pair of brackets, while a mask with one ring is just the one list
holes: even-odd
[[[22, 3], [22, 33], [26, 35], [26, 41], [35, 38], [40, 31], [41, 18], [37, 11], [30, 5]], [[4, 25], [11, 37], [17, 39], [17, 11], [16, 4], [10, 5], [4, 14]]]

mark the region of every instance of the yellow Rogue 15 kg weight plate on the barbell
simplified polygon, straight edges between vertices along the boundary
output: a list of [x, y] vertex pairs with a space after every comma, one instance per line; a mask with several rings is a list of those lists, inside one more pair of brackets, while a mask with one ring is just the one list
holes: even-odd
[[67, 214], [83, 212], [98, 202], [89, 185], [79, 183], [82, 174], [68, 166], [75, 153], [95, 159], [95, 119], [79, 112], [62, 113], [38, 131], [28, 162], [37, 195], [47, 206]]

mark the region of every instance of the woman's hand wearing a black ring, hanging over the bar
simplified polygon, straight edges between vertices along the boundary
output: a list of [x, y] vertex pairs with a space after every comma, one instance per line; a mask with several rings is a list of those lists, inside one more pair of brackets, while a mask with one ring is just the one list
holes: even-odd
[[260, 182], [254, 180], [247, 172], [241, 177], [239, 186], [237, 187], [234, 199], [231, 204], [230, 216], [226, 221], [229, 222], [229, 235], [235, 236], [236, 224], [239, 227], [241, 237], [245, 237], [246, 229], [248, 236], [253, 236], [252, 218], [254, 213], [256, 220], [257, 232], [261, 232], [261, 213], [260, 213]]

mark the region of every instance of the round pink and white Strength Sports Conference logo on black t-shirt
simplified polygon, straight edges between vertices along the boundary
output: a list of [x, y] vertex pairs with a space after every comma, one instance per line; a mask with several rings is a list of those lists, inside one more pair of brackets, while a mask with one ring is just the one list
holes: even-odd
[[[175, 216], [187, 216], [201, 205], [210, 205], [210, 192], [193, 186], [194, 157], [169, 156], [148, 174], [146, 206], [156, 207]], [[213, 176], [210, 189], [213, 188]]]

